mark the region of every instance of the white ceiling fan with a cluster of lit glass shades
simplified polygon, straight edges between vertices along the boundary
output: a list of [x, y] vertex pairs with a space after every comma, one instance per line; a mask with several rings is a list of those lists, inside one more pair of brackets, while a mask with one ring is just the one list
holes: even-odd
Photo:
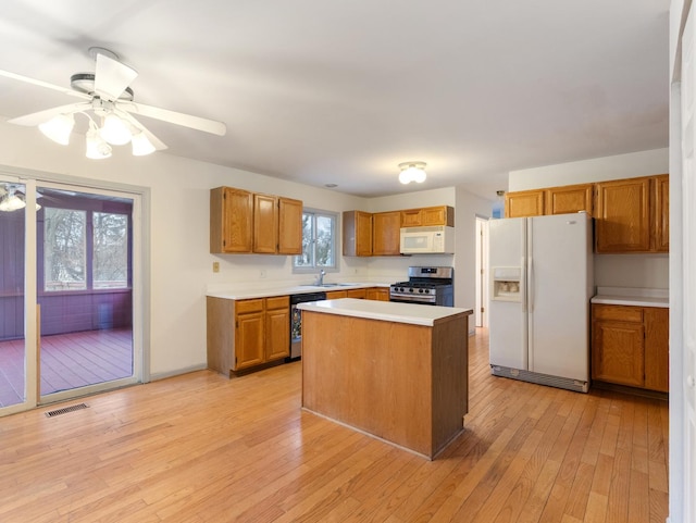
[[138, 73], [120, 62], [119, 57], [108, 49], [91, 47], [89, 54], [96, 61], [95, 73], [72, 75], [70, 88], [0, 70], [0, 76], [82, 99], [76, 103], [46, 109], [8, 122], [27, 126], [38, 125], [46, 136], [59, 144], [67, 145], [75, 124], [74, 115], [83, 114], [89, 125], [86, 133], [86, 154], [91, 159], [109, 158], [112, 152], [111, 146], [128, 142], [132, 144], [134, 155], [166, 149], [159, 138], [134, 117], [134, 114], [217, 136], [225, 135], [227, 128], [222, 122], [134, 102], [134, 92], [128, 86]]

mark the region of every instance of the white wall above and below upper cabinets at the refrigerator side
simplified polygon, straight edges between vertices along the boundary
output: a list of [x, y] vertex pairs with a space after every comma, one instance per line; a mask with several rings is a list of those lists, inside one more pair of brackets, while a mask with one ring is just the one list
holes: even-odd
[[[511, 171], [511, 191], [650, 176], [669, 172], [669, 149]], [[595, 284], [669, 288], [669, 254], [595, 254]]]

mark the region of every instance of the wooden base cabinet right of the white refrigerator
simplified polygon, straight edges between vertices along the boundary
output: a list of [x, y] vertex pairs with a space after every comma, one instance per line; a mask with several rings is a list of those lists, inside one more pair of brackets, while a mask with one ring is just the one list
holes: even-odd
[[669, 309], [592, 306], [592, 377], [667, 393]]

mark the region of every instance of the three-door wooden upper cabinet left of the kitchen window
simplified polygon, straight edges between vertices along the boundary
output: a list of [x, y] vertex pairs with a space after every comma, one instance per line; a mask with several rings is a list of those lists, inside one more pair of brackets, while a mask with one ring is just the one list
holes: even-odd
[[232, 187], [211, 189], [210, 252], [301, 254], [302, 202]]

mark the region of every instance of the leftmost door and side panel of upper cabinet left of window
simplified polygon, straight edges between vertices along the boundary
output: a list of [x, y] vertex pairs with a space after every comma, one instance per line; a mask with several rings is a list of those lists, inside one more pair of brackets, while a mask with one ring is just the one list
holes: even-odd
[[232, 187], [210, 191], [210, 252], [251, 252], [253, 195]]

